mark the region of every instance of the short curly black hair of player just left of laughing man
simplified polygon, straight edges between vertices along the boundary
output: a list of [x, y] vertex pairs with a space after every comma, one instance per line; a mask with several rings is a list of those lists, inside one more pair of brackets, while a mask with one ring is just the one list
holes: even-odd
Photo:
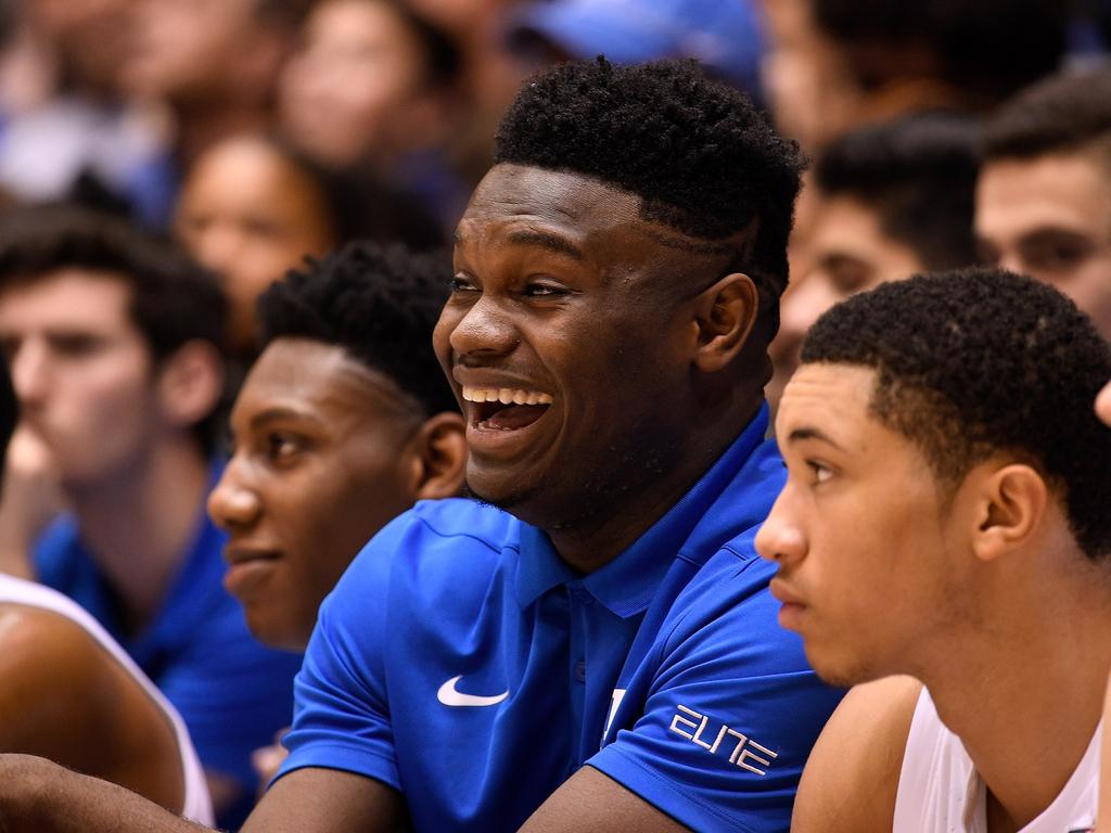
[[416, 398], [424, 416], [459, 410], [432, 351], [452, 274], [446, 252], [356, 241], [306, 262], [259, 297], [261, 347], [281, 338], [334, 344]]

